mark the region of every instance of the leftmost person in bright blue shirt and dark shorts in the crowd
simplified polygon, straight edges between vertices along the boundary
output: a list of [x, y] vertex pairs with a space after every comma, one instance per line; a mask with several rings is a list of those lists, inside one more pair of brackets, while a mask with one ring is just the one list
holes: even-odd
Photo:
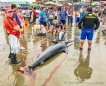
[[43, 7], [43, 10], [40, 12], [40, 24], [44, 25], [46, 30], [48, 31], [46, 18], [46, 8]]

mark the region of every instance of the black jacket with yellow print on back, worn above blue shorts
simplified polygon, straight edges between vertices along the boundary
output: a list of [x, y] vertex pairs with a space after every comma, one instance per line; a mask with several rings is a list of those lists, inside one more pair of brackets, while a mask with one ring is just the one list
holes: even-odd
[[97, 30], [99, 28], [99, 25], [100, 22], [98, 17], [90, 13], [82, 17], [80, 22], [78, 23], [79, 29], [86, 28]]

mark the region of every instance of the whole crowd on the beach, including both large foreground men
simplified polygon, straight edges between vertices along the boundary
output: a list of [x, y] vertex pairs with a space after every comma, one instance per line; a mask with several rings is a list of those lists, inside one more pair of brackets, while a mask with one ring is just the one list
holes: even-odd
[[[88, 6], [51, 6], [51, 7], [29, 7], [17, 8], [15, 4], [11, 8], [3, 9], [1, 15], [4, 19], [6, 38], [9, 41], [11, 51], [9, 58], [12, 64], [18, 64], [16, 54], [22, 46], [20, 38], [24, 37], [26, 25], [43, 25], [47, 33], [53, 31], [52, 35], [58, 35], [60, 31], [66, 31], [66, 23], [69, 27], [82, 29], [80, 51], [83, 50], [84, 40], [88, 39], [88, 50], [91, 50], [93, 30], [97, 30], [100, 21], [106, 25], [105, 7]], [[89, 33], [90, 32], [90, 33]], [[21, 48], [20, 48], [21, 47]]]

